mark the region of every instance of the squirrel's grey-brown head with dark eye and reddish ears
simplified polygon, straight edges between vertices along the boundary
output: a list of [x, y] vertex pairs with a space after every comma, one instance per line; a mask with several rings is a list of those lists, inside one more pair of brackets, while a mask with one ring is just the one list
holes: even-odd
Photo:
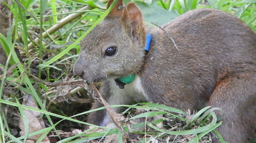
[[[113, 0], [109, 0], [107, 9]], [[118, 0], [108, 16], [80, 43], [74, 73], [84, 80], [98, 82], [141, 70], [145, 56], [146, 33], [142, 13], [134, 2], [124, 9]]]

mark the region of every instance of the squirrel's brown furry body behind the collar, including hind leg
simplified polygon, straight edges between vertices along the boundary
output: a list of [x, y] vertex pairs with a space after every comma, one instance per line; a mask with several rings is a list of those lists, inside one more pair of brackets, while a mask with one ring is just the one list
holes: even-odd
[[214, 9], [189, 11], [162, 28], [179, 50], [163, 30], [147, 30], [152, 42], [141, 77], [151, 102], [183, 110], [219, 107], [224, 140], [248, 142], [256, 133], [256, 33]]

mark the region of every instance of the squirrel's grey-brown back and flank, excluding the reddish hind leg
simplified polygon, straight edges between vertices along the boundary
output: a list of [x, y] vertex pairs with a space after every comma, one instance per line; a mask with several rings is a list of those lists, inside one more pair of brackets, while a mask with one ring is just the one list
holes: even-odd
[[[165, 85], [173, 84], [171, 87], [177, 87], [172, 89], [177, 91], [175, 95], [196, 93], [202, 96], [204, 103], [221, 79], [241, 72], [256, 72], [256, 34], [231, 14], [196, 9], [162, 28], [174, 39], [179, 50], [163, 30], [148, 28], [152, 42], [141, 72], [145, 83], [152, 80], [154, 72], [157, 88], [166, 88], [162, 92], [170, 89]], [[180, 87], [184, 90], [179, 90]], [[192, 98], [186, 99], [189, 105], [198, 103], [198, 98]]]

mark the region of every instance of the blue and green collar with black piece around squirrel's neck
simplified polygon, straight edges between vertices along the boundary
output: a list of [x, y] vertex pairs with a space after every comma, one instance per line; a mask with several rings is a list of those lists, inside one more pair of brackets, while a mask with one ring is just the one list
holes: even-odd
[[[149, 47], [150, 47], [150, 42], [151, 42], [151, 36], [150, 35], [146, 35], [146, 45], [145, 45], [145, 50], [149, 51]], [[131, 74], [128, 76], [123, 76], [120, 78], [116, 78], [115, 82], [117, 85], [119, 85], [120, 89], [124, 89], [124, 85], [131, 83], [135, 78], [135, 74]]]

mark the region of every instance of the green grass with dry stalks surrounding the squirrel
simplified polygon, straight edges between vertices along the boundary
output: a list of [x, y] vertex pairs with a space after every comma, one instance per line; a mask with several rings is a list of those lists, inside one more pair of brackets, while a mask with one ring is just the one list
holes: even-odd
[[[129, 1], [125, 0], [126, 3]], [[40, 142], [49, 134], [55, 134], [59, 143], [89, 141], [109, 134], [117, 134], [119, 142], [122, 142], [122, 133], [119, 130], [106, 127], [97, 127], [104, 129], [101, 132], [91, 132], [93, 129], [90, 129], [79, 132], [75, 136], [63, 138], [58, 130], [82, 129], [82, 125], [89, 125], [84, 118], [93, 110], [87, 111], [89, 105], [86, 103], [89, 99], [86, 91], [80, 91], [83, 94], [78, 94], [73, 92], [73, 89], [65, 91], [68, 89], [65, 85], [50, 86], [54, 81], [74, 80], [70, 70], [80, 51], [78, 43], [108, 14], [109, 11], [104, 9], [106, 7], [104, 3], [106, 0], [14, 0], [12, 5], [2, 2], [13, 14], [13, 25], [7, 36], [0, 34], [0, 42], [8, 56], [6, 65], [1, 65], [3, 73], [0, 85], [0, 142], [24, 142], [33, 135], [39, 135], [37, 142]], [[146, 23], [155, 22], [161, 25], [166, 22], [156, 20], [151, 13], [147, 13], [148, 8], [155, 10], [158, 18], [169, 21], [189, 10], [211, 7], [237, 16], [256, 31], [255, 0], [145, 0], [145, 2], [136, 1], [136, 4], [143, 11]], [[15, 48], [19, 49], [20, 55], [15, 52]], [[32, 74], [49, 84], [38, 82], [32, 78]], [[31, 107], [22, 103], [26, 95], [33, 96], [37, 106]], [[148, 121], [134, 123], [133, 131], [124, 126], [126, 132], [138, 133], [140, 137], [145, 134], [150, 135], [147, 138], [140, 138], [141, 142], [153, 138], [167, 140], [173, 136], [174, 141], [177, 141], [182, 139], [181, 135], [185, 134], [195, 134], [196, 136], [193, 136], [194, 138], [189, 142], [197, 142], [210, 138], [209, 132], [214, 131], [221, 124], [221, 122], [217, 123], [217, 117], [213, 112], [216, 109], [209, 110], [208, 107], [193, 116], [188, 116], [187, 113], [178, 109], [152, 103], [113, 105], [112, 107], [118, 106], [147, 110], [139, 115], [127, 114], [131, 111], [126, 110], [124, 114], [130, 122], [143, 117], [161, 117], [151, 123]], [[39, 117], [36, 119], [43, 119], [48, 126], [30, 132], [32, 126], [29, 124], [30, 118], [26, 116], [28, 110], [39, 112]], [[173, 112], [178, 112], [179, 116], [174, 115]], [[162, 117], [163, 114], [168, 116]], [[19, 117], [24, 121], [22, 136], [19, 134], [17, 124], [14, 123]], [[208, 120], [210, 118], [211, 120]], [[175, 131], [168, 127], [156, 126], [158, 123], [176, 120], [178, 123], [174, 123]], [[180, 121], [184, 123], [183, 126], [179, 126]], [[145, 126], [150, 132], [139, 130]], [[221, 135], [218, 134], [218, 136], [221, 138]]]

